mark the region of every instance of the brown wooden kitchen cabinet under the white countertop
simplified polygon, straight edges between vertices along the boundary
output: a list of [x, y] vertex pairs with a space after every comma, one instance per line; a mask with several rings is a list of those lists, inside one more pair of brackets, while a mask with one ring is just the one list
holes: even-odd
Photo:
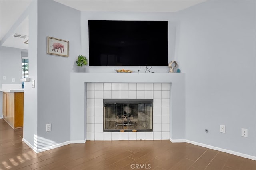
[[13, 128], [23, 127], [23, 92], [3, 92], [3, 118]]

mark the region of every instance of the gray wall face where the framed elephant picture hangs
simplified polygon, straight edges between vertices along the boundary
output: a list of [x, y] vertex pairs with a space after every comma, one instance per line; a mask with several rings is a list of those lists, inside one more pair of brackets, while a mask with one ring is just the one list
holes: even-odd
[[[46, 54], [47, 36], [69, 41], [69, 57]], [[81, 50], [80, 11], [38, 1], [37, 38], [38, 136], [50, 139], [49, 145], [70, 141], [70, 72]], [[46, 132], [48, 123], [50, 132]]]

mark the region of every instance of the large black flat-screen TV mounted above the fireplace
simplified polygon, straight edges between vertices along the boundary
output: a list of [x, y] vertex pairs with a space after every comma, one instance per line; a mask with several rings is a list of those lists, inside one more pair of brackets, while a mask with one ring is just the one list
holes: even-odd
[[89, 20], [90, 66], [167, 66], [168, 21]]

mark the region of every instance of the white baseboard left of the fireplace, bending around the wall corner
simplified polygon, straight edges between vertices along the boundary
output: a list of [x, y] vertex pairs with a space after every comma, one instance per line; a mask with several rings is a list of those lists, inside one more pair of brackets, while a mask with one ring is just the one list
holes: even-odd
[[85, 143], [86, 142], [86, 138], [85, 140], [80, 140], [80, 141], [66, 141], [66, 142], [63, 142], [63, 143], [58, 143], [56, 145], [52, 145], [52, 146], [49, 146], [49, 147], [45, 147], [45, 148], [42, 148], [42, 149], [37, 149], [36, 147], [34, 147], [33, 145], [31, 145], [28, 141], [26, 141], [26, 139], [22, 138], [22, 141], [24, 143], [26, 143], [31, 149], [33, 149], [33, 151], [35, 153], [39, 153], [39, 152], [43, 152], [43, 151], [46, 151], [46, 150], [50, 150], [50, 149], [54, 149], [54, 148], [58, 148], [58, 147], [62, 147], [64, 145], [68, 145], [68, 144], [72, 144], [72, 143]]

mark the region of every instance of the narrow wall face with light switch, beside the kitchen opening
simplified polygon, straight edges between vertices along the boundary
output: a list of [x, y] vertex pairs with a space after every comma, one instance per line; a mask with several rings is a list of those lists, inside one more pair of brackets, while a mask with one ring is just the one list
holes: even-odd
[[35, 88], [32, 88], [31, 81], [24, 82], [23, 141], [26, 141], [26, 143], [30, 144], [32, 149], [37, 150], [37, 1], [31, 2], [30, 6], [23, 15], [26, 15], [29, 18], [29, 78], [31, 80], [36, 80]]

